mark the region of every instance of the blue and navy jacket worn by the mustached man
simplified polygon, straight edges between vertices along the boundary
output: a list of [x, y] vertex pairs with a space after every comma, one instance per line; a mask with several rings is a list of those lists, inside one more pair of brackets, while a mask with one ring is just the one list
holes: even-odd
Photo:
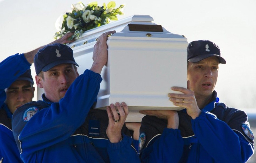
[[[13, 132], [24, 162], [103, 163], [140, 162], [132, 139], [123, 127], [123, 140], [106, 136], [106, 110], [90, 109], [102, 78], [86, 70], [59, 102], [31, 102], [13, 115]], [[128, 131], [129, 132], [129, 131]]]

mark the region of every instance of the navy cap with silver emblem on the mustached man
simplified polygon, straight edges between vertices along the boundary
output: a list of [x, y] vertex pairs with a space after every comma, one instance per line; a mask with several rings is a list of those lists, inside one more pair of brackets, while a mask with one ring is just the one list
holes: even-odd
[[73, 50], [64, 44], [51, 44], [39, 49], [34, 57], [35, 73], [46, 72], [63, 63], [71, 63], [79, 66], [73, 57]]

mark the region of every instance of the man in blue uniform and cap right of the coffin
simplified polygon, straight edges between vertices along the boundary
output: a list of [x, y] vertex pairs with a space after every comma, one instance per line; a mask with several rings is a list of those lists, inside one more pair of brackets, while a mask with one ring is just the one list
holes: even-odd
[[181, 111], [141, 111], [142, 162], [244, 163], [254, 153], [254, 136], [245, 112], [219, 103], [214, 90], [221, 57], [219, 47], [197, 40], [187, 47], [187, 89], [169, 93]]

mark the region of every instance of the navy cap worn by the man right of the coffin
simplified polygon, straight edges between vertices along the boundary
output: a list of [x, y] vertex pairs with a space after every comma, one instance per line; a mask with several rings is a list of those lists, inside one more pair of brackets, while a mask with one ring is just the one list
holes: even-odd
[[187, 46], [187, 61], [189, 62], [199, 62], [211, 56], [216, 56], [219, 63], [226, 64], [224, 58], [221, 57], [221, 49], [209, 40], [192, 41]]

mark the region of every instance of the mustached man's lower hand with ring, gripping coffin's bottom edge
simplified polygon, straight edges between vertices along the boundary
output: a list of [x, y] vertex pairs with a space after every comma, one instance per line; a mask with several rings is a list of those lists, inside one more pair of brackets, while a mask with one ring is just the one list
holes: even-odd
[[106, 134], [111, 143], [118, 143], [122, 137], [121, 130], [123, 124], [125, 124], [126, 117], [129, 113], [128, 106], [125, 102], [122, 102], [120, 105], [119, 102], [115, 103], [117, 110], [115, 109], [114, 104], [112, 103], [107, 107], [107, 116], [109, 117], [109, 125], [107, 126]]

